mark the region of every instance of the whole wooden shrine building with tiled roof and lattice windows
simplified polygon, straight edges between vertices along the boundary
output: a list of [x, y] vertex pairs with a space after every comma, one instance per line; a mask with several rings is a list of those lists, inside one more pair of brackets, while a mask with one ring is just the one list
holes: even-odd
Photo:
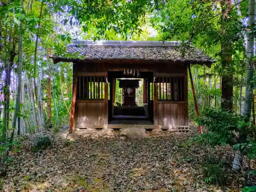
[[[67, 54], [51, 58], [54, 63], [73, 62], [70, 133], [73, 126], [186, 129], [187, 67], [210, 67], [213, 62], [198, 48], [182, 46], [180, 41], [76, 41], [67, 47]], [[119, 88], [126, 89], [122, 106], [115, 106], [118, 79]], [[139, 81], [143, 106], [135, 100]]]

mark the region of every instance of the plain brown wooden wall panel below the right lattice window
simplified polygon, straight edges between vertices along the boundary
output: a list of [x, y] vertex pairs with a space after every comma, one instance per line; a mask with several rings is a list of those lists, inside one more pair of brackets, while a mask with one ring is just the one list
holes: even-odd
[[187, 103], [155, 101], [156, 115], [154, 125], [188, 125]]

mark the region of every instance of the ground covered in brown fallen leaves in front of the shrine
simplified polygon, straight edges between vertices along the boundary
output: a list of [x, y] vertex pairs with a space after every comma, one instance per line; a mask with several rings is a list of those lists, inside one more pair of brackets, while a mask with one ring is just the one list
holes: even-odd
[[[76, 134], [67, 130], [53, 136], [54, 144], [41, 153], [31, 152], [36, 136], [22, 142], [13, 166], [0, 182], [16, 191], [239, 191], [242, 175], [230, 171], [231, 147], [189, 145], [197, 133], [147, 133], [138, 140], [119, 140], [119, 132]], [[209, 158], [224, 162], [225, 184], [207, 184], [203, 164]]]

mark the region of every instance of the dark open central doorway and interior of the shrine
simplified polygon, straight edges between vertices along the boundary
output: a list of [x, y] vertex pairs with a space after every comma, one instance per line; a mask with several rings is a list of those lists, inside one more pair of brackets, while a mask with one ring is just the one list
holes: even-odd
[[[150, 98], [150, 83], [153, 82], [153, 79], [153, 72], [139, 72], [139, 75], [136, 73], [133, 76], [133, 74], [123, 74], [123, 71], [109, 71], [109, 122], [113, 122], [113, 120], [153, 122], [153, 99]], [[122, 103], [117, 103], [117, 106], [115, 106], [116, 81], [119, 81], [119, 89], [123, 90]], [[143, 88], [143, 106], [138, 106], [136, 103], [136, 89], [139, 88], [139, 81], [145, 83], [145, 85], [143, 84], [145, 86]]]

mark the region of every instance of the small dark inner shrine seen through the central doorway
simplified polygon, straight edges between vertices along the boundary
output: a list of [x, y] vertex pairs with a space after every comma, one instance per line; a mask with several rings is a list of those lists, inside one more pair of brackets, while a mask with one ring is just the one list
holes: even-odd
[[139, 88], [140, 79], [118, 79], [119, 88], [123, 89], [122, 106], [137, 106], [136, 104], [136, 89]]

